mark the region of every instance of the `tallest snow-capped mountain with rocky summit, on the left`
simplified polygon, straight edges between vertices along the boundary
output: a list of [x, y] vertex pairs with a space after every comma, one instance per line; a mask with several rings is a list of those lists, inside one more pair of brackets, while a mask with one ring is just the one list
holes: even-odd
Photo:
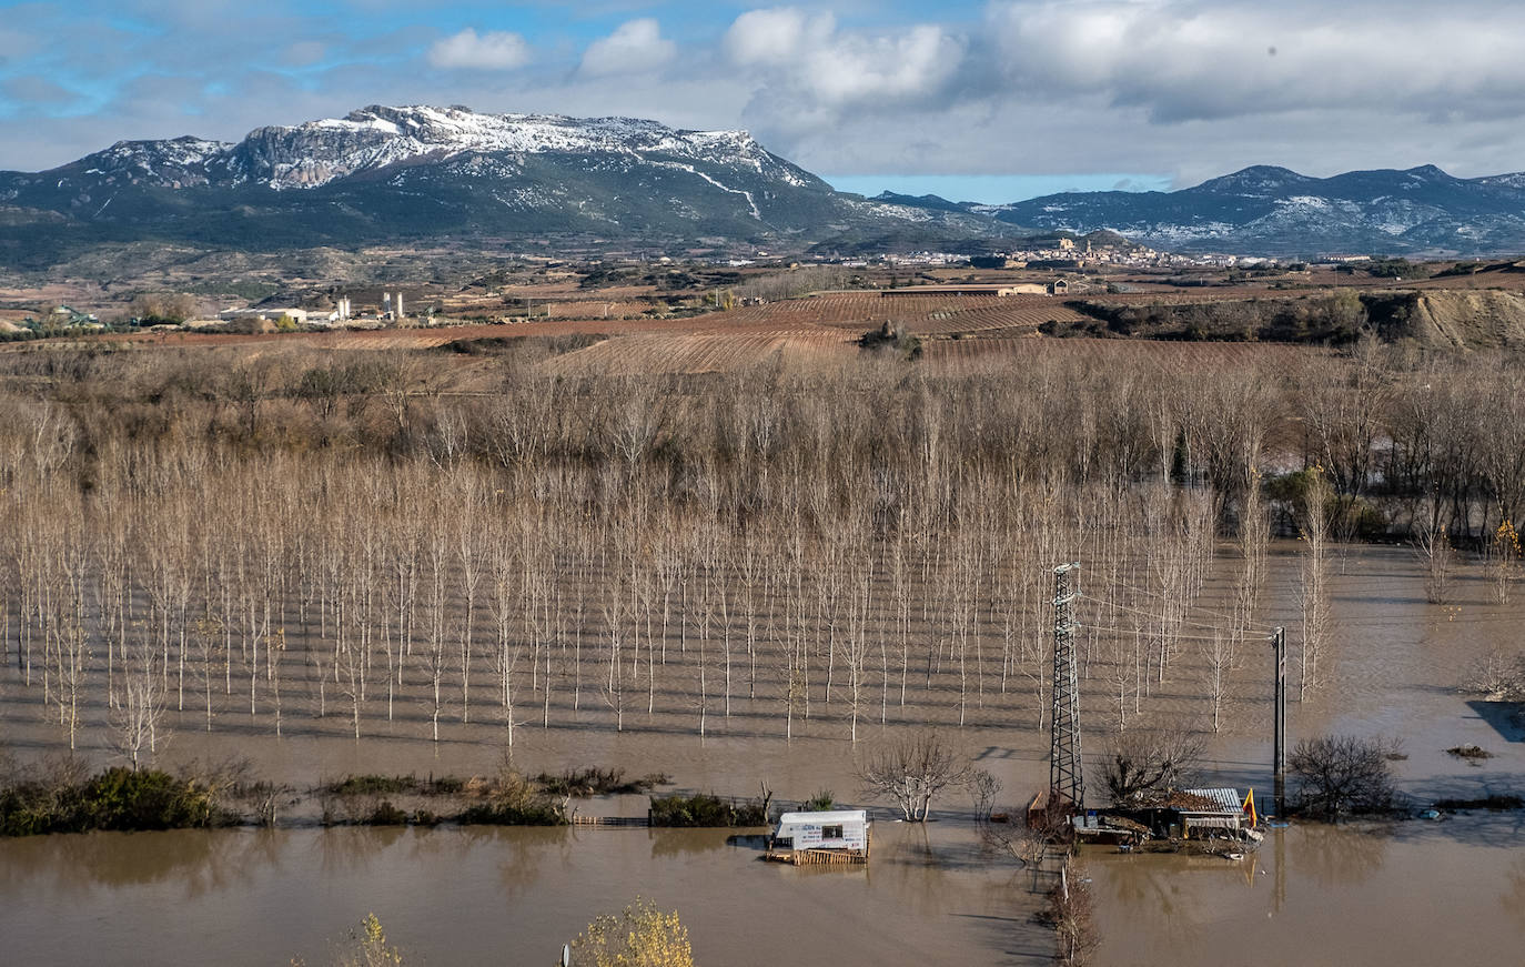
[[119, 142], [52, 171], [0, 172], [0, 259], [27, 226], [61, 236], [59, 215], [75, 241], [252, 249], [544, 233], [810, 243], [907, 226], [970, 238], [994, 226], [834, 192], [744, 131], [461, 107], [366, 107], [236, 143]]

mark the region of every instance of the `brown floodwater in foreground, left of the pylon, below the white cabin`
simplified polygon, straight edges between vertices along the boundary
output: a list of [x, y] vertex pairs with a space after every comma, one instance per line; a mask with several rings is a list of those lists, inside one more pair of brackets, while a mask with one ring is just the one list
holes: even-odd
[[708, 965], [1042, 964], [1026, 877], [967, 824], [875, 827], [856, 869], [726, 830], [220, 830], [0, 840], [11, 964], [328, 962], [375, 912], [407, 962], [551, 964], [639, 894]]

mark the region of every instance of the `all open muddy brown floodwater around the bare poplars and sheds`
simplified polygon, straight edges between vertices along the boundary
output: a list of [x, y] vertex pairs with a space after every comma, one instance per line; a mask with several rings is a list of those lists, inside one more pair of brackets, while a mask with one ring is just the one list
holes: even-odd
[[[1225, 569], [1226, 572], [1228, 569]], [[1278, 546], [1266, 622], [1295, 627], [1293, 548]], [[1458, 569], [1447, 607], [1424, 599], [1412, 554], [1348, 548], [1334, 573], [1336, 641], [1321, 688], [1290, 703], [1290, 734], [1348, 732], [1397, 740], [1400, 789], [1417, 805], [1441, 796], [1525, 793], [1525, 731], [1496, 706], [1456, 689], [1469, 663], [1494, 645], [1517, 650], [1525, 592], [1496, 604], [1473, 564]], [[1203, 596], [1226, 610], [1226, 583]], [[1295, 631], [1292, 638], [1296, 656]], [[1269, 793], [1269, 650], [1244, 656], [1232, 679], [1205, 782]], [[1293, 671], [1295, 674], [1295, 671]], [[1112, 702], [1083, 680], [1086, 750], [1095, 769]], [[1046, 781], [1045, 735], [1031, 697], [987, 696], [979, 728], [952, 726], [952, 700], [891, 721], [941, 721], [1019, 804]], [[946, 697], [946, 696], [944, 696]], [[58, 749], [29, 692], [0, 682], [0, 744], [18, 758]], [[416, 709], [413, 709], [416, 717]], [[1206, 700], [1185, 656], [1130, 721], [1203, 721]], [[877, 717], [875, 717], [877, 718]], [[538, 724], [538, 723], [537, 723]], [[522, 728], [514, 764], [526, 772], [573, 766], [665, 772], [671, 787], [779, 801], [831, 790], [857, 801], [857, 750], [833, 711], [784, 741], [776, 708], [737, 702], [700, 740], [692, 717], [631, 715], [616, 732], [592, 700], [551, 729]], [[796, 723], [801, 724], [801, 723]], [[314, 784], [360, 772], [471, 775], [496, 769], [502, 728], [473, 721], [422, 738], [418, 723], [377, 726], [355, 741], [331, 718], [293, 717], [276, 738], [232, 712], [212, 735], [194, 714], [172, 723], [162, 761], [249, 757], [255, 772]], [[904, 726], [900, 726], [904, 728]], [[892, 726], [894, 729], [894, 726]], [[865, 724], [865, 744], [880, 738]], [[798, 734], [796, 734], [798, 735]], [[110, 761], [105, 741], [92, 749]], [[1444, 750], [1479, 744], [1481, 764]], [[583, 811], [636, 814], [644, 801], [602, 799]], [[724, 831], [647, 830], [226, 830], [0, 840], [0, 961], [67, 964], [325, 962], [328, 943], [375, 912], [389, 935], [432, 964], [537, 964], [593, 915], [636, 894], [677, 909], [702, 964], [1037, 964], [1052, 952], [1034, 924], [1034, 880], [978, 853], [967, 796], [950, 796], [942, 822], [910, 830], [881, 822], [868, 869], [813, 871], [756, 862], [755, 847]], [[1519, 962], [1525, 949], [1525, 831], [1517, 813], [1380, 828], [1295, 825], [1241, 863], [1215, 859], [1087, 854], [1107, 965], [1472, 964]]]

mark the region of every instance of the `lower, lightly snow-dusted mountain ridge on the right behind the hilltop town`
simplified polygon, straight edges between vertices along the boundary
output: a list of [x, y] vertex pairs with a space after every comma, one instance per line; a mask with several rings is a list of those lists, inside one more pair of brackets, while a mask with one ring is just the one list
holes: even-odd
[[1186, 252], [1525, 252], [1525, 174], [1455, 178], [1434, 165], [1330, 178], [1257, 166], [1176, 192], [1071, 192], [961, 207], [1045, 230], [1110, 229]]

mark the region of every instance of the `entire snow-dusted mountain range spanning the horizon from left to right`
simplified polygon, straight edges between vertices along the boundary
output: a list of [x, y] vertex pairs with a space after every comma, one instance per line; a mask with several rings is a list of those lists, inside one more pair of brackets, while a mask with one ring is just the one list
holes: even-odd
[[52, 171], [0, 172], [0, 264], [142, 239], [276, 250], [576, 236], [865, 252], [979, 250], [981, 239], [1060, 229], [1186, 252], [1519, 253], [1525, 174], [1453, 178], [1424, 166], [1312, 178], [1257, 166], [1176, 192], [862, 198], [744, 131], [461, 107], [366, 107], [235, 143], [119, 142]]

